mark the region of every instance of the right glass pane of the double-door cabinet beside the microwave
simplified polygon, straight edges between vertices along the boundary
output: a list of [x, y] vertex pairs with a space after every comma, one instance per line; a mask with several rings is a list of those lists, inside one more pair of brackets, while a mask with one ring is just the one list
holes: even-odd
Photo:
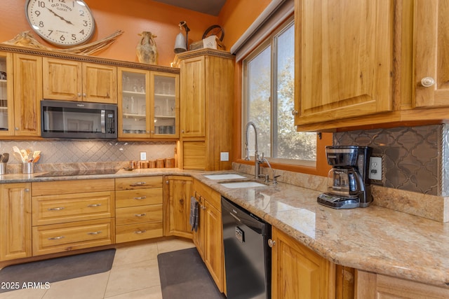
[[154, 76], [154, 134], [175, 134], [176, 80]]

